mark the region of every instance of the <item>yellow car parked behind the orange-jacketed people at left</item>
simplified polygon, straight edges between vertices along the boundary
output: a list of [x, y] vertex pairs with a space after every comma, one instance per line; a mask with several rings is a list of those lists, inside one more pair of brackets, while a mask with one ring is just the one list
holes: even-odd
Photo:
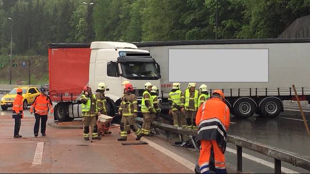
[[[18, 86], [23, 90], [22, 96], [24, 97], [23, 107], [27, 109], [27, 106], [31, 105], [34, 102], [36, 96], [40, 95], [39, 89], [37, 87], [31, 86]], [[3, 111], [7, 110], [8, 107], [13, 106], [14, 99], [17, 95], [15, 87], [8, 94], [1, 98], [1, 109]]]

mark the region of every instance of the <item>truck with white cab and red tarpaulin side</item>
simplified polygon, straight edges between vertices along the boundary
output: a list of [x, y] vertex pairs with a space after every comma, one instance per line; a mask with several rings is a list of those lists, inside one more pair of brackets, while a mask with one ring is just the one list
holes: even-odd
[[[160, 91], [160, 66], [149, 51], [132, 43], [49, 43], [49, 95], [54, 118], [70, 121], [82, 117], [79, 97], [85, 85], [97, 89], [100, 82], [108, 85], [108, 115], [119, 121], [117, 110], [123, 96], [122, 82], [130, 81], [140, 105], [144, 84], [150, 82]], [[161, 100], [159, 99], [159, 105]]]

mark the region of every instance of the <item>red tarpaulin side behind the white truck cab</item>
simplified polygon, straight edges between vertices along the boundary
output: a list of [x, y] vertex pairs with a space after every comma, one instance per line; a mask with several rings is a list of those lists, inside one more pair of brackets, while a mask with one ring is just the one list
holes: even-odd
[[90, 48], [48, 49], [49, 92], [52, 101], [71, 101], [78, 97], [88, 83], [90, 56]]

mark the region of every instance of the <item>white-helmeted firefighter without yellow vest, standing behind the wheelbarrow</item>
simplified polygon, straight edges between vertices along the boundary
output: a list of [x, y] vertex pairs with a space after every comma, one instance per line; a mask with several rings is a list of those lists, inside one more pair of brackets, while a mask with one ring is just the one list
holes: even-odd
[[[106, 87], [108, 86], [105, 83], [103, 82], [99, 83], [95, 95], [96, 95], [96, 100], [97, 100], [98, 111], [100, 112], [100, 114], [108, 116], [108, 105], [107, 105], [107, 99], [105, 96]], [[96, 120], [98, 120], [98, 115], [96, 116]], [[111, 134], [111, 133], [112, 132], [109, 130], [105, 131], [105, 134]]]

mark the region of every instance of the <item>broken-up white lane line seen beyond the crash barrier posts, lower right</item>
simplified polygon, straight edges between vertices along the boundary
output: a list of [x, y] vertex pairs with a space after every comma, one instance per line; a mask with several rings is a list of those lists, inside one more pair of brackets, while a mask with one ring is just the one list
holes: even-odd
[[[237, 154], [237, 151], [235, 149], [230, 148], [230, 147], [226, 147], [226, 150], [228, 152]], [[268, 166], [270, 168], [273, 168], [273, 169], [275, 168], [274, 163], [266, 161], [266, 160], [263, 160], [263, 159], [260, 159], [260, 158], [257, 158], [257, 157], [254, 157], [252, 155], [249, 155], [249, 154], [246, 154], [246, 153], [243, 153], [243, 152], [242, 152], [242, 157], [247, 158], [248, 160], [252, 160], [252, 161], [258, 162], [258, 163], [263, 164], [265, 166]], [[288, 168], [285, 168], [285, 167], [281, 167], [281, 172], [283, 172], [285, 174], [299, 174], [298, 172], [293, 171], [293, 170], [288, 169]]]

